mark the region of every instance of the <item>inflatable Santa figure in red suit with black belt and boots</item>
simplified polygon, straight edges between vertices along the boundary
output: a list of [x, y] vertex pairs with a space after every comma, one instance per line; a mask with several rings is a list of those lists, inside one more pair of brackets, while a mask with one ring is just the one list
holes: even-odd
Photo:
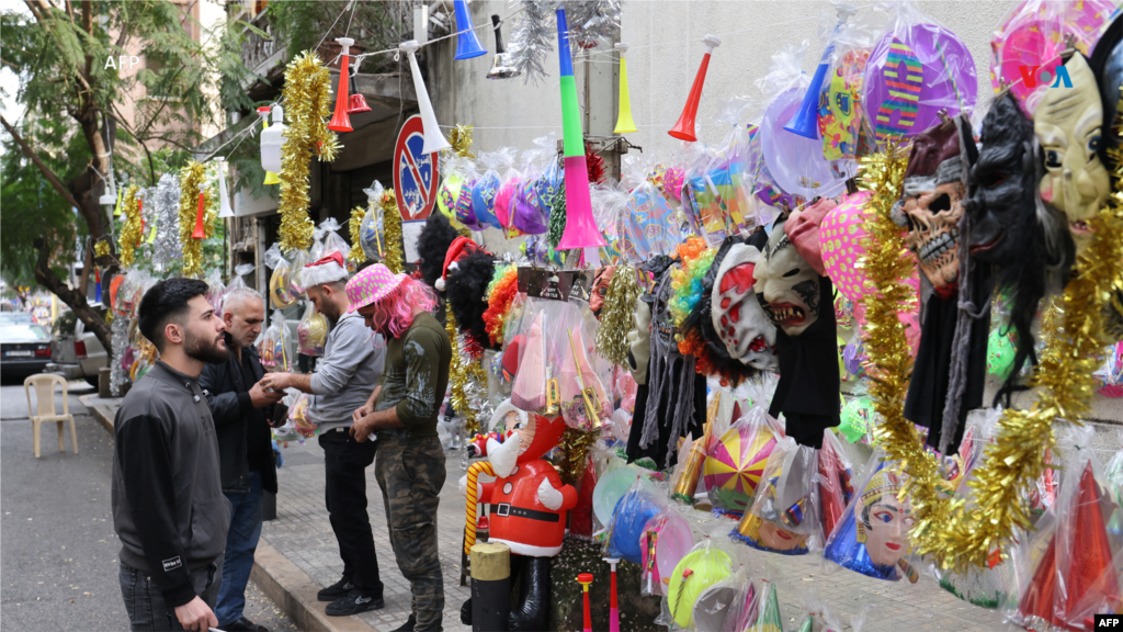
[[[511, 607], [508, 630], [545, 630], [549, 558], [562, 551], [566, 516], [577, 505], [577, 490], [563, 485], [554, 466], [542, 459], [562, 439], [565, 422], [528, 414], [506, 400], [492, 417], [492, 431], [485, 453], [495, 481], [482, 485], [478, 498], [491, 504], [489, 541], [502, 542], [521, 557], [511, 559], [512, 571], [521, 566], [521, 589], [520, 603]], [[463, 620], [471, 606], [465, 604], [460, 612]]]

